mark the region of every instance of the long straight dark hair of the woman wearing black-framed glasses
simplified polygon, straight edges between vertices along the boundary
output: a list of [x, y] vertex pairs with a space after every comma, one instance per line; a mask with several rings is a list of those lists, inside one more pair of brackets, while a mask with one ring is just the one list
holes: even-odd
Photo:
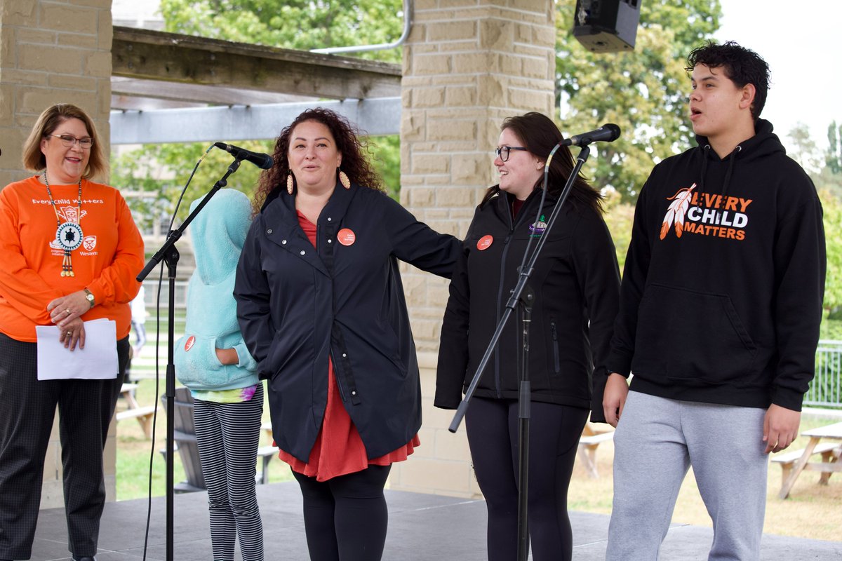
[[[550, 155], [552, 149], [563, 140], [562, 133], [558, 130], [552, 119], [545, 114], [530, 111], [530, 113], [520, 115], [519, 117], [509, 117], [503, 121], [500, 130], [511, 130], [514, 135], [520, 139], [523, 146], [530, 151], [533, 156], [546, 161], [546, 157]], [[567, 183], [570, 173], [575, 167], [575, 160], [573, 160], [573, 153], [567, 146], [562, 146], [552, 156], [550, 162], [550, 171], [547, 181], [547, 190], [553, 196], [559, 196], [562, 193], [564, 184]], [[541, 188], [544, 184], [544, 176], [533, 186], [533, 188]], [[500, 192], [499, 185], [493, 185], [485, 192], [482, 198], [482, 204], [486, 204], [494, 195]], [[605, 209], [602, 207], [602, 194], [591, 187], [590, 183], [581, 172], [578, 173], [576, 179], [573, 181], [573, 187], [570, 188], [568, 201], [573, 206], [582, 206], [594, 209], [597, 213], [602, 214]]]

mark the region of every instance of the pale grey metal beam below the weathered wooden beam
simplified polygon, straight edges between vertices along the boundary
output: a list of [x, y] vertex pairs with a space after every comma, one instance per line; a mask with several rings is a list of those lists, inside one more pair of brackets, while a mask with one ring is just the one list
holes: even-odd
[[111, 144], [265, 140], [306, 108], [330, 108], [344, 114], [369, 135], [397, 135], [401, 126], [401, 98], [359, 101], [313, 101], [266, 105], [112, 111]]

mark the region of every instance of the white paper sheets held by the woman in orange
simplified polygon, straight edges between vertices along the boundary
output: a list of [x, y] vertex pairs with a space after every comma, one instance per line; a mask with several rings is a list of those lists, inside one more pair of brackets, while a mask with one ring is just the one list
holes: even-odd
[[63, 380], [117, 378], [117, 324], [100, 318], [85, 321], [85, 348], [71, 351], [59, 342], [58, 325], [36, 325], [38, 379]]

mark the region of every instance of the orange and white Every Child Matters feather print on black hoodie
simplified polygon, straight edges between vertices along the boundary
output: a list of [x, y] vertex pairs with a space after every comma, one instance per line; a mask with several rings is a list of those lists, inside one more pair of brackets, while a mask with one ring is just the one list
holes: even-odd
[[683, 234], [701, 234], [728, 240], [745, 239], [745, 226], [749, 215], [745, 214], [753, 199], [727, 197], [716, 193], [698, 193], [696, 184], [681, 188], [672, 197], [667, 213], [663, 216], [660, 239], [669, 235], [674, 225], [675, 237]]

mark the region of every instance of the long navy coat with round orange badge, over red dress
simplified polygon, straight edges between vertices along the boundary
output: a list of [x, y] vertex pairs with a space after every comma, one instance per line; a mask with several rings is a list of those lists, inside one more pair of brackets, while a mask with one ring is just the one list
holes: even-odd
[[[353, 243], [349, 241], [353, 239]], [[397, 259], [450, 278], [460, 244], [384, 193], [340, 185], [317, 221], [317, 248], [280, 193], [254, 220], [234, 296], [258, 373], [269, 379], [278, 446], [310, 456], [328, 400], [328, 356], [369, 458], [421, 426], [415, 343]]]

